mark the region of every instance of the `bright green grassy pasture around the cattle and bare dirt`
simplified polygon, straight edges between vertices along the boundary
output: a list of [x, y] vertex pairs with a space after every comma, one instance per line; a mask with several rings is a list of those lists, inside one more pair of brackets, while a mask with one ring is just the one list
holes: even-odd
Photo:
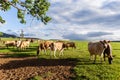
[[[9, 39], [12, 40], [12, 38]], [[8, 38], [3, 38], [3, 40], [8, 40]], [[53, 55], [49, 55], [50, 51], [47, 51], [48, 54], [42, 52], [38, 56], [38, 59], [69, 59], [71, 61], [76, 61], [72, 71], [75, 76], [72, 77], [72, 80], [120, 80], [120, 42], [111, 42], [114, 56], [111, 65], [108, 63], [107, 59], [101, 64], [99, 56], [97, 56], [96, 63], [93, 64], [93, 61], [89, 60], [89, 52], [87, 49], [88, 41], [74, 42], [76, 43], [76, 49], [65, 49], [63, 56], [58, 56], [57, 54], [57, 58], [54, 58]], [[17, 50], [13, 47], [7, 49], [2, 43], [0, 43], [0, 54], [6, 54], [8, 57], [12, 58], [29, 56], [36, 57], [37, 46], [38, 43], [34, 42], [31, 43], [30, 48], [26, 50]], [[36, 78], [36, 76], [34, 78]]]

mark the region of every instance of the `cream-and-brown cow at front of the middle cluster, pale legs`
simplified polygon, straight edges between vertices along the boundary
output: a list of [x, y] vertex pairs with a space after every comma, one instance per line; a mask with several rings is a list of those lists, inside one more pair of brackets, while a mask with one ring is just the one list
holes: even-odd
[[51, 51], [54, 51], [54, 57], [56, 57], [56, 51], [60, 51], [59, 55], [63, 55], [63, 51], [65, 48], [65, 43], [63, 42], [54, 42], [50, 45]]

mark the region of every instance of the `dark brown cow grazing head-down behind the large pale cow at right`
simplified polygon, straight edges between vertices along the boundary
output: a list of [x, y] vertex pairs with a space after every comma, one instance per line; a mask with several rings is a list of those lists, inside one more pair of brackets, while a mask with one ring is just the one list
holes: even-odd
[[106, 54], [107, 54], [108, 62], [109, 62], [109, 64], [112, 64], [112, 60], [113, 60], [112, 47], [111, 47], [110, 41], [108, 41], [108, 42], [109, 43], [107, 45], [107, 48], [103, 52], [103, 54], [104, 54], [104, 61], [105, 61], [105, 57], [106, 57]]

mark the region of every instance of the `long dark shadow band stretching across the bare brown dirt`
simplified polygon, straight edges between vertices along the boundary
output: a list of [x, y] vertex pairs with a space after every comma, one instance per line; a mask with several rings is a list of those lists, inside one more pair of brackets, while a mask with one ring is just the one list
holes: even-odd
[[8, 63], [2, 64], [0, 69], [9, 70], [21, 67], [53, 67], [53, 66], [75, 66], [77, 59], [44, 59], [44, 58], [27, 58], [22, 60], [12, 60]]

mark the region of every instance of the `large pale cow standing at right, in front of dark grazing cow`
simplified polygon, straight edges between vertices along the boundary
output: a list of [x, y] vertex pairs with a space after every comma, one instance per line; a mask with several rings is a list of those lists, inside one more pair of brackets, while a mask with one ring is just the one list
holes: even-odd
[[104, 50], [108, 47], [109, 41], [103, 40], [99, 42], [89, 42], [88, 51], [90, 53], [90, 59], [95, 55], [94, 63], [96, 62], [96, 56], [99, 55], [101, 62]]

